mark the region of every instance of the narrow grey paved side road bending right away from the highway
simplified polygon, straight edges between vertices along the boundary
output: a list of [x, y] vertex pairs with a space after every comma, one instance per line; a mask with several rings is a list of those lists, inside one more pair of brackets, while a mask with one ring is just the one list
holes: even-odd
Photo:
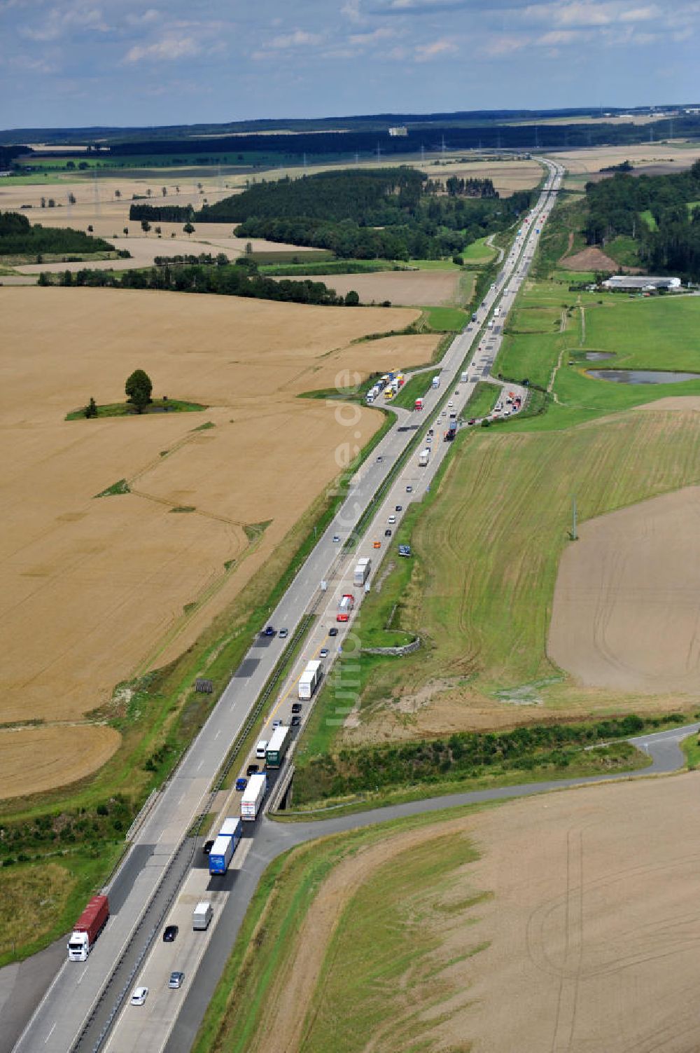
[[216, 985], [221, 976], [234, 941], [238, 935], [248, 903], [258, 886], [265, 868], [280, 853], [296, 845], [327, 834], [345, 833], [376, 822], [386, 822], [389, 819], [400, 819], [411, 815], [427, 812], [441, 812], [444, 809], [462, 804], [476, 804], [488, 800], [508, 800], [518, 797], [529, 797], [572, 787], [586, 786], [593, 782], [611, 782], [622, 779], [636, 779], [654, 775], [668, 775], [683, 768], [685, 758], [680, 749], [680, 742], [688, 735], [697, 734], [700, 723], [674, 728], [671, 731], [655, 732], [631, 739], [637, 749], [652, 757], [652, 764], [636, 772], [617, 775], [589, 775], [582, 778], [553, 779], [546, 782], [526, 782], [521, 786], [501, 787], [493, 790], [475, 790], [471, 793], [449, 794], [445, 797], [429, 797], [423, 800], [408, 801], [405, 804], [392, 804], [387, 808], [372, 809], [357, 815], [340, 816], [335, 819], [323, 819], [311, 822], [275, 822], [271, 819], [260, 821], [252, 849], [248, 852], [246, 866], [236, 877], [235, 895], [229, 896], [223, 909], [222, 917], [215, 930], [206, 954], [197, 971], [197, 978], [192, 985], [180, 1010], [178, 1021], [165, 1046], [165, 1053], [188, 1053], [195, 1040], [195, 1035], [202, 1021]]

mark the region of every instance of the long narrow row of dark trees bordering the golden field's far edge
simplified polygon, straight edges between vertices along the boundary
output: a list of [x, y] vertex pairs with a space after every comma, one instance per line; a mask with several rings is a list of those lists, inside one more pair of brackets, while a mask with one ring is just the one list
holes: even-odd
[[[145, 271], [125, 271], [121, 276], [111, 271], [65, 271], [58, 278], [61, 285], [96, 285], [119, 289], [157, 289], [175, 293], [215, 293], [222, 296], [246, 296], [260, 300], [282, 300], [292, 303], [314, 303], [329, 306], [355, 306], [357, 293], [338, 296], [322, 281], [275, 281], [245, 266], [165, 264]], [[40, 285], [54, 284], [53, 276], [40, 275]]]

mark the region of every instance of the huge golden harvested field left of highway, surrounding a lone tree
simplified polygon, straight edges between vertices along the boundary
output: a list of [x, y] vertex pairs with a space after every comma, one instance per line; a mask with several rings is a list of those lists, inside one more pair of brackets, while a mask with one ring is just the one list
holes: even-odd
[[[176, 657], [335, 478], [338, 450], [381, 421], [363, 409], [348, 435], [337, 403], [297, 393], [346, 382], [348, 369], [422, 362], [438, 340], [348, 346], [417, 313], [223, 296], [16, 287], [2, 311], [0, 722], [79, 720], [118, 681]], [[211, 409], [64, 420], [91, 395], [123, 399], [136, 367], [155, 395]], [[131, 493], [95, 499], [119, 480]], [[245, 526], [267, 520], [251, 543]], [[68, 751], [75, 728], [61, 735], [57, 752], [87, 757]], [[4, 758], [0, 771], [4, 796]], [[27, 779], [22, 792], [36, 789]]]

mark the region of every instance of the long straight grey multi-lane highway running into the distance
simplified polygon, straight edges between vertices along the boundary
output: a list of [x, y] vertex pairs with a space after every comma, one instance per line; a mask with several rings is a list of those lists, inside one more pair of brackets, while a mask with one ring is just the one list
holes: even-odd
[[[395, 408], [396, 423], [371, 459], [354, 476], [336, 518], [271, 613], [271, 623], [276, 629], [287, 628], [289, 634], [309, 611], [316, 614], [316, 621], [299, 661], [282, 684], [276, 703], [271, 707], [262, 734], [264, 738], [269, 737], [273, 718], [281, 717], [287, 722], [295, 700], [294, 686], [301, 667], [317, 655], [321, 647], [329, 647], [327, 630], [332, 621], [335, 623], [339, 595], [353, 591], [352, 573], [358, 557], [384, 554], [386, 544], [391, 543], [384, 537], [388, 516], [401, 514], [395, 512], [397, 504], [405, 509], [411, 501], [421, 499], [448, 454], [451, 443], [441, 441], [441, 428], [429, 424], [438, 404], [446, 402], [448, 394], [454, 408], [451, 411], [445, 408], [445, 412], [459, 415], [476, 382], [491, 374], [501, 342], [502, 315], [509, 310], [527, 273], [541, 223], [552, 208], [554, 195], [561, 182], [563, 168], [548, 161], [545, 163], [549, 170], [547, 182], [528, 221], [523, 222], [522, 234], [516, 238], [495, 284], [479, 307], [476, 323], [469, 324], [455, 338], [442, 362], [435, 366], [435, 372], [439, 372], [441, 377], [440, 389], [427, 393], [422, 414]], [[501, 318], [494, 318], [493, 329], [486, 329], [497, 304], [501, 307]], [[467, 370], [468, 382], [461, 383], [460, 372], [467, 369], [465, 363], [473, 352], [475, 354]], [[417, 452], [412, 454], [386, 494], [376, 502], [376, 514], [363, 539], [348, 554], [343, 549], [343, 542], [364, 510], [372, 504], [377, 488], [386, 479], [416, 430], [427, 429], [428, 425], [434, 426], [436, 432], [428, 464], [419, 468]], [[336, 535], [340, 538], [339, 542], [334, 541]], [[381, 542], [380, 550], [374, 549], [375, 540]], [[326, 592], [321, 591], [321, 581], [327, 582]], [[358, 594], [355, 590], [355, 594], [356, 607], [359, 608], [362, 591]], [[351, 631], [352, 625], [351, 621]], [[334, 645], [342, 647], [347, 627], [338, 628], [342, 631]], [[279, 635], [259, 637], [253, 641], [206, 723], [171, 779], [161, 788], [136, 831], [132, 846], [107, 890], [112, 916], [95, 950], [84, 963], [63, 962], [17, 1040], [14, 1047], [17, 1053], [36, 1053], [38, 1050], [68, 1053], [76, 1048], [94, 1049], [98, 1041], [102, 1042], [111, 1027], [109, 1037], [101, 1048], [112, 1053], [117, 1050], [128, 1050], [131, 1053], [133, 1049], [148, 1049], [155, 1053], [163, 1048], [175, 1049], [172, 1044], [180, 1042], [181, 1036], [189, 1033], [195, 1016], [191, 1018], [188, 1011], [185, 1024], [184, 1016], [181, 1018], [178, 1014], [179, 1008], [187, 1005], [191, 993], [195, 999], [201, 997], [199, 976], [203, 972], [211, 988], [209, 981], [216, 972], [214, 962], [218, 961], [222, 967], [225, 961], [231, 935], [239, 923], [236, 919], [240, 903], [246, 900], [247, 891], [255, 889], [256, 875], [261, 872], [259, 866], [272, 851], [268, 846], [277, 845], [276, 851], [279, 851], [280, 837], [292, 837], [292, 834], [279, 833], [279, 830], [285, 829], [281, 824], [258, 820], [246, 830], [246, 837], [239, 846], [229, 873], [224, 878], [212, 879], [198, 847], [186, 837], [195, 818], [209, 810], [213, 779], [284, 647], [285, 642]], [[331, 652], [328, 663], [336, 654], [337, 651]], [[305, 709], [307, 711], [308, 707]], [[307, 712], [303, 712], [302, 718], [306, 716]], [[243, 759], [241, 768], [245, 768]], [[235, 804], [236, 798], [233, 797], [228, 807]], [[217, 810], [225, 810], [225, 796], [215, 802]], [[382, 813], [382, 817], [387, 817], [386, 813]], [[358, 824], [357, 817], [352, 824]], [[277, 831], [274, 836], [269, 832], [271, 827]], [[193, 933], [192, 908], [200, 898], [211, 899], [215, 918], [206, 933]], [[180, 934], [174, 945], [162, 945], [160, 941], [160, 930], [165, 922], [180, 926]], [[158, 938], [154, 939], [156, 935]], [[200, 968], [200, 960], [206, 962], [205, 970]], [[180, 990], [165, 987], [171, 968], [185, 973], [184, 986]], [[139, 1008], [123, 1006], [124, 996], [137, 984], [152, 989], [146, 1005]], [[168, 1042], [171, 1033], [173, 1037]], [[185, 1047], [178, 1045], [177, 1048]]]

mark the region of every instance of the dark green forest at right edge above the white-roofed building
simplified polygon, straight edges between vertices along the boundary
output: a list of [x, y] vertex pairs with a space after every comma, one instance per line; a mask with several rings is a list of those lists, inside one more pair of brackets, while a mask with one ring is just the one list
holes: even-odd
[[588, 244], [627, 235], [649, 272], [700, 279], [700, 161], [668, 176], [618, 173], [587, 183], [586, 200]]

